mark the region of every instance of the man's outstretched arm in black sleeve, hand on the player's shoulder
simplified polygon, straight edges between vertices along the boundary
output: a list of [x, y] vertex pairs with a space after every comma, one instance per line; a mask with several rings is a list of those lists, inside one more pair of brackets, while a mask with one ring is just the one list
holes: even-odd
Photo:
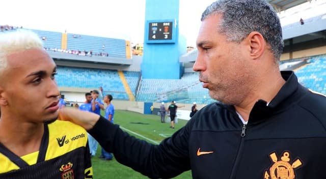
[[172, 137], [153, 145], [122, 131], [118, 125], [90, 112], [60, 110], [60, 119], [85, 129], [116, 160], [150, 178], [171, 178], [190, 169], [188, 139], [191, 127], [183, 127]]

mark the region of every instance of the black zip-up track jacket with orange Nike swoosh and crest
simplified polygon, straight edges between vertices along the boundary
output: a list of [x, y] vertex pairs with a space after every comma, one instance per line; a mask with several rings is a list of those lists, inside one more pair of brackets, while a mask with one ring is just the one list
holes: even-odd
[[151, 178], [192, 170], [201, 179], [326, 178], [326, 97], [292, 71], [268, 106], [259, 100], [247, 125], [233, 106], [212, 103], [172, 137], [152, 145], [103, 117], [89, 132], [116, 159]]

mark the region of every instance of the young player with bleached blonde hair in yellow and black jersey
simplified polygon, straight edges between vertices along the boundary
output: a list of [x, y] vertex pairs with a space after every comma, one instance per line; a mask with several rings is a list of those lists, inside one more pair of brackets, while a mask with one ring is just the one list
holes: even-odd
[[36, 33], [0, 33], [0, 178], [93, 177], [86, 130], [57, 120], [56, 74]]

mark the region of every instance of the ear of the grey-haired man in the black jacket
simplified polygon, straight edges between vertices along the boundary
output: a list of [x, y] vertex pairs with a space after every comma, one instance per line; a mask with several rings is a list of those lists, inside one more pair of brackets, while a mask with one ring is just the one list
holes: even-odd
[[263, 35], [257, 31], [252, 31], [246, 38], [250, 45], [250, 56], [253, 59], [259, 58], [266, 49], [266, 41]]

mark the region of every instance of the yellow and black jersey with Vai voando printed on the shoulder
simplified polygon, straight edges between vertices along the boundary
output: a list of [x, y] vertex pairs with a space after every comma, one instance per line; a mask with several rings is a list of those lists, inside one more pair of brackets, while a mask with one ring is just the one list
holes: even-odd
[[22, 157], [0, 143], [0, 178], [93, 178], [87, 132], [67, 121], [44, 124], [39, 151]]

